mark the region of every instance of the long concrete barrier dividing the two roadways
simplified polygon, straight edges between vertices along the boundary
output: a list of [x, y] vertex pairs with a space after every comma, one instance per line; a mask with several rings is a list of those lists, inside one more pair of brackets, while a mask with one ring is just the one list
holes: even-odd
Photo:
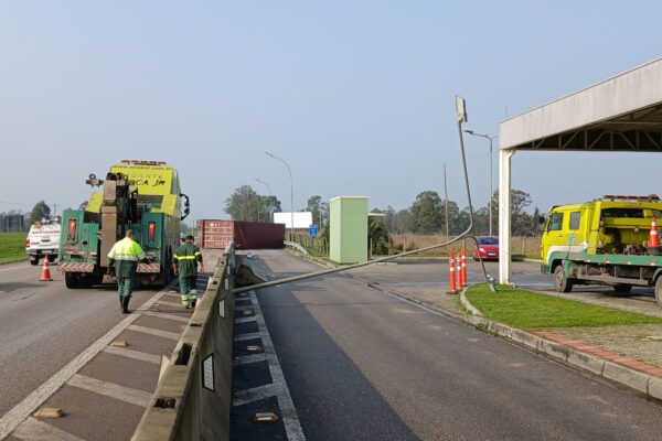
[[234, 247], [226, 249], [134, 433], [134, 441], [226, 440], [232, 399]]

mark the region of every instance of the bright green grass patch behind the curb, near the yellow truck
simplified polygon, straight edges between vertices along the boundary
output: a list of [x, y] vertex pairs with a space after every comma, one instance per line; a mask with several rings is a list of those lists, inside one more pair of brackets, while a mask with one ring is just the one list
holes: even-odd
[[662, 323], [662, 318], [511, 287], [498, 286], [496, 289], [498, 292], [493, 293], [487, 284], [473, 286], [467, 291], [467, 298], [484, 316], [515, 327], [592, 327]]

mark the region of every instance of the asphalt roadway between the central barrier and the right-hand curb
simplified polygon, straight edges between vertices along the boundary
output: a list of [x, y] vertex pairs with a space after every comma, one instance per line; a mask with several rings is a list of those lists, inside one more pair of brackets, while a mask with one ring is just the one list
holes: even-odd
[[[259, 256], [275, 277], [319, 269]], [[659, 404], [352, 278], [257, 298], [308, 440], [661, 438]]]

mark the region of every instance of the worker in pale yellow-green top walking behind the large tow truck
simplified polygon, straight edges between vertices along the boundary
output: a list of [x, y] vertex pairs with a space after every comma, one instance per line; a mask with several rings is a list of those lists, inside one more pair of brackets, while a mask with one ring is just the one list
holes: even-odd
[[129, 313], [129, 301], [134, 293], [138, 262], [149, 263], [140, 245], [134, 239], [134, 230], [127, 229], [125, 238], [117, 241], [110, 252], [110, 266], [115, 266], [117, 277], [117, 293], [119, 294], [119, 306], [125, 314]]

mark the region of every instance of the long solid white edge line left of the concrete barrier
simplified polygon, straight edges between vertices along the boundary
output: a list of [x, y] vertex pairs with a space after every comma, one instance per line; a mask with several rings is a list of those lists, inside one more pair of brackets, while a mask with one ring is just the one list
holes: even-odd
[[124, 330], [126, 330], [134, 321], [149, 310], [173, 283], [166, 289], [154, 294], [151, 299], [142, 303], [132, 314], [126, 316], [121, 322], [115, 325], [110, 331], [104, 334], [99, 340], [94, 342], [88, 348], [83, 351], [78, 356], [72, 359], [66, 366], [55, 373], [43, 385], [34, 389], [21, 402], [14, 406], [10, 411], [0, 418], [0, 440], [7, 438], [25, 418], [28, 418], [42, 402], [62, 387], [71, 377], [74, 376], [83, 366], [85, 366], [95, 355], [104, 347], [108, 346]]

